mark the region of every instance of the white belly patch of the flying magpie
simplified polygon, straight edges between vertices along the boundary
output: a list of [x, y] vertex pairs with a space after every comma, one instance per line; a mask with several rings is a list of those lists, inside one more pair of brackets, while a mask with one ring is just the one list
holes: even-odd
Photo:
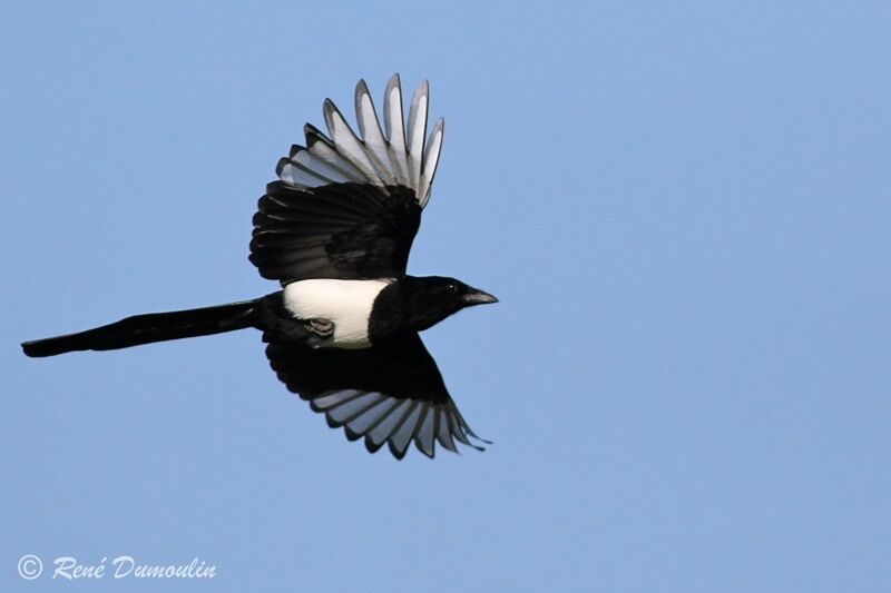
[[334, 323], [331, 346], [368, 348], [369, 316], [386, 280], [333, 280], [320, 278], [288, 284], [285, 308], [301, 319], [329, 319]]

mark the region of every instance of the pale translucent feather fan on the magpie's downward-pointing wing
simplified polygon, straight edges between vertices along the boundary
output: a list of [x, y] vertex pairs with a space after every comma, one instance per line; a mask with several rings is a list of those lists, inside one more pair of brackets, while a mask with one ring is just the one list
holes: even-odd
[[371, 453], [386, 444], [400, 459], [412, 442], [428, 457], [434, 456], [437, 442], [454, 453], [458, 453], [454, 439], [478, 451], [483, 447], [470, 438], [490, 444], [470, 429], [451, 399], [433, 404], [378, 392], [342, 389], [320, 395], [310, 402], [310, 407], [324, 413], [332, 428], [343, 426], [350, 441], [364, 437], [365, 448]]

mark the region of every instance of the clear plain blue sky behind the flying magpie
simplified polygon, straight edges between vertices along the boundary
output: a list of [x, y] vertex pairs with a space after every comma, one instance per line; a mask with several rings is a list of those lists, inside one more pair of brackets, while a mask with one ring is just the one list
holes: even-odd
[[[2, 4], [3, 591], [891, 587], [887, 2]], [[501, 298], [424, 338], [489, 451], [369, 455], [254, 332], [21, 354], [276, 289], [277, 159], [395, 71], [447, 120], [410, 270]]]

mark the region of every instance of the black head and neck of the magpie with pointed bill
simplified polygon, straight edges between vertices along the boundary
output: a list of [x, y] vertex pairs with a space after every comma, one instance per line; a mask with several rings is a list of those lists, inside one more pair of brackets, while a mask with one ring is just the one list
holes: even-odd
[[466, 307], [498, 303], [498, 299], [468, 286], [461, 280], [443, 276], [408, 276], [398, 280], [407, 325], [421, 332]]

